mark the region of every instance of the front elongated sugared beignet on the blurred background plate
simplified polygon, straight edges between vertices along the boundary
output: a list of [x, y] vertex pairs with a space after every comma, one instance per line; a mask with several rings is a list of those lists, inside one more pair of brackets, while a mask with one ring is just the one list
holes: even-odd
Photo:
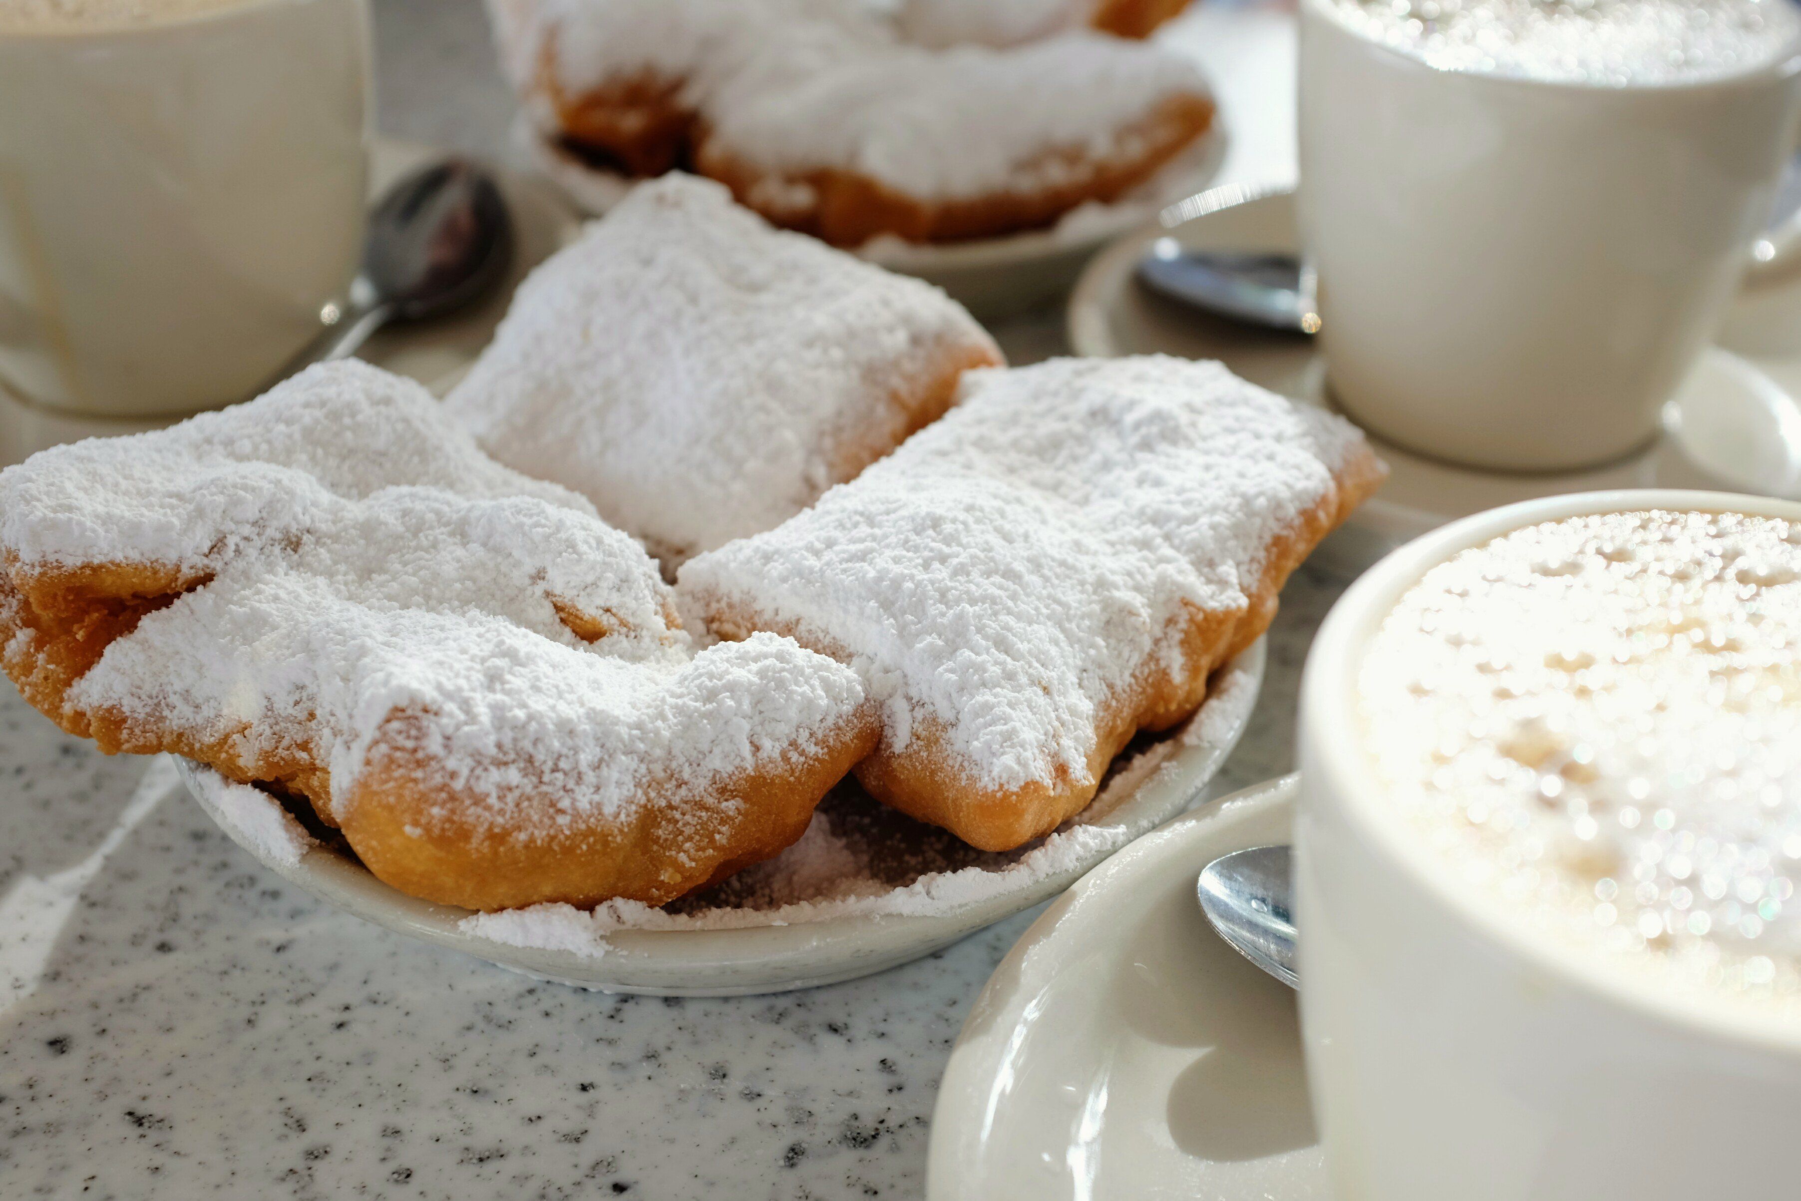
[[1138, 187], [1214, 119], [1185, 59], [1091, 32], [776, 74], [722, 92], [695, 164], [771, 221], [845, 247], [1052, 225]]

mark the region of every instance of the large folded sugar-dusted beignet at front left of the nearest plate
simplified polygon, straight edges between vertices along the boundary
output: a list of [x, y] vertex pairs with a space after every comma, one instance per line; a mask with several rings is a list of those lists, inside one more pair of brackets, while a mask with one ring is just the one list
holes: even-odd
[[798, 839], [873, 740], [854, 673], [695, 652], [632, 538], [362, 364], [7, 468], [0, 558], [34, 706], [304, 799], [445, 904], [679, 897]]

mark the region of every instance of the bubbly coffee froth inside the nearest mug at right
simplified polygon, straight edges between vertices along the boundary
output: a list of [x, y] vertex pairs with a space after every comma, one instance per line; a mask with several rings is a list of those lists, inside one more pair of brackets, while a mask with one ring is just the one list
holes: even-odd
[[1358, 672], [1403, 825], [1540, 936], [1801, 1014], [1801, 522], [1614, 513], [1430, 571]]

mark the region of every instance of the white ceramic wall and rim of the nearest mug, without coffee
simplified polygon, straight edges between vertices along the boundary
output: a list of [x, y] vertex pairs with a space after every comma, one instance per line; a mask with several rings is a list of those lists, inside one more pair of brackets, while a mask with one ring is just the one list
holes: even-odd
[[1430, 567], [1543, 520], [1646, 508], [1801, 519], [1707, 492], [1529, 501], [1437, 529], [1351, 587], [1308, 655], [1295, 828], [1300, 1017], [1336, 1201], [1796, 1194], [1801, 1028], [1675, 1001], [1457, 888], [1360, 744], [1363, 648]]

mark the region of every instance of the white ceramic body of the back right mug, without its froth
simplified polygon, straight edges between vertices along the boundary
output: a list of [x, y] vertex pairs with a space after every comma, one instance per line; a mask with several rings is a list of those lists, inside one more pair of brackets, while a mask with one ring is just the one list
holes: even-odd
[[1338, 403], [1507, 470], [1630, 454], [1706, 348], [1801, 115], [1801, 59], [1606, 86], [1439, 70], [1300, 5], [1300, 229]]

